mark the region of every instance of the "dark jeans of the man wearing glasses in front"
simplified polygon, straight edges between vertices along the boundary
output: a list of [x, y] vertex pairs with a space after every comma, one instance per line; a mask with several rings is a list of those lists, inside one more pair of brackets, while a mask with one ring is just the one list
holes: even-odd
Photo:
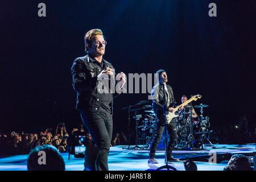
[[93, 170], [108, 171], [108, 154], [113, 132], [112, 115], [101, 111], [98, 113], [86, 113], [84, 110], [80, 110], [80, 114], [82, 122], [84, 122], [96, 143], [95, 150], [93, 147], [88, 147], [89, 151], [87, 151], [86, 148], [85, 168], [89, 166], [88, 162], [91, 161]]

